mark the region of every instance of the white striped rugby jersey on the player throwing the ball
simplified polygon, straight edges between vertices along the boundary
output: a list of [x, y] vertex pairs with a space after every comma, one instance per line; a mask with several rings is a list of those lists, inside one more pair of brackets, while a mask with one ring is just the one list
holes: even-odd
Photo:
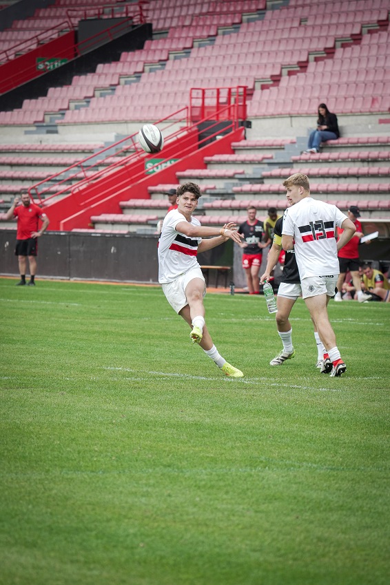
[[[178, 276], [199, 268], [196, 255], [201, 237], [187, 237], [176, 231], [176, 225], [186, 222], [184, 215], [177, 209], [172, 209], [163, 221], [160, 239], [158, 240], [158, 282], [165, 284], [172, 282]], [[196, 217], [191, 217], [193, 226], [200, 226]]]

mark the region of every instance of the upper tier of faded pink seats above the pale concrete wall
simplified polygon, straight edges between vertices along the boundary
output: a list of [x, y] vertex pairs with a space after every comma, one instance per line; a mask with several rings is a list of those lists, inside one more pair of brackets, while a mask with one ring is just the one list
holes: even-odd
[[[150, 1], [156, 34], [171, 19], [166, 38], [147, 41], [143, 50], [124, 52], [119, 61], [98, 65], [94, 73], [74, 76], [70, 86], [52, 88], [46, 97], [25, 100], [20, 109], [0, 114], [0, 123], [42, 123], [53, 113], [60, 124], [156, 119], [185, 105], [189, 86], [200, 79], [203, 87], [220, 81], [245, 83], [253, 92], [249, 117], [311, 114], [322, 96], [328, 96], [329, 108], [338, 114], [387, 111], [387, 3], [333, 2], [327, 4], [325, 15], [319, 6], [311, 3], [305, 9], [304, 2], [296, 7], [290, 2], [280, 10], [265, 11], [263, 1], [242, 1], [194, 6], [175, 2], [163, 8]], [[58, 10], [63, 8], [58, 4]], [[41, 21], [48, 10], [54, 8], [41, 9], [26, 21]], [[245, 10], [247, 14], [264, 10], [263, 18], [243, 21]], [[172, 13], [174, 17], [166, 16]], [[307, 14], [305, 19], [302, 13]], [[218, 34], [223, 28], [230, 34]], [[364, 34], [368, 30], [376, 34]], [[202, 39], [204, 43], [199, 42]], [[342, 87], [337, 83], [340, 75]], [[170, 91], [164, 91], [168, 87]], [[101, 90], [110, 94], [99, 96]], [[71, 99], [85, 100], [83, 107], [75, 109]]]

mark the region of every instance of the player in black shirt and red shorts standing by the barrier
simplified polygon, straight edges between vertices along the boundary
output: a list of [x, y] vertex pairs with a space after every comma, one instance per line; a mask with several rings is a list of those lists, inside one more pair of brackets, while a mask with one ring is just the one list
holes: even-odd
[[247, 277], [249, 295], [259, 295], [260, 286], [258, 273], [260, 272], [261, 259], [265, 243], [264, 224], [256, 219], [256, 207], [249, 205], [247, 208], [248, 219], [240, 225], [238, 233], [243, 234], [244, 239], [240, 247], [243, 248], [243, 268]]

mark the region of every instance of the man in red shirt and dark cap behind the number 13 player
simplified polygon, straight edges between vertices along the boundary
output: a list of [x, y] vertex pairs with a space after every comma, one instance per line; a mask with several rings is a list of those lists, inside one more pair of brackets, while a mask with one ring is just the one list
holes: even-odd
[[[340, 248], [340, 250], [338, 251], [338, 262], [340, 264], [340, 275], [338, 276], [338, 281], [337, 281], [337, 285], [336, 285], [338, 292], [336, 292], [336, 295], [334, 296], [334, 300], [335, 301], [342, 301], [341, 288], [342, 288], [342, 284], [343, 284], [344, 279], [345, 279], [345, 274], [347, 273], [347, 270], [349, 270], [351, 273], [352, 280], [353, 280], [353, 286], [354, 286], [356, 293], [358, 295], [358, 301], [360, 303], [363, 303], [364, 301], [368, 301], [369, 299], [371, 299], [371, 295], [366, 295], [365, 292], [362, 291], [362, 284], [361, 284], [360, 275], [359, 275], [360, 262], [359, 262], [358, 247], [360, 244], [360, 238], [363, 235], [362, 224], [358, 220], [358, 217], [360, 217], [359, 208], [356, 205], [351, 205], [347, 211], [347, 215], [348, 215], [349, 219], [351, 220], [351, 222], [353, 222], [355, 224], [356, 232], [355, 232], [355, 235], [351, 238], [351, 240], [349, 240], [349, 242], [347, 244], [345, 244], [345, 246]], [[339, 229], [338, 230], [339, 237], [340, 237], [341, 233], [342, 233], [342, 230]]]

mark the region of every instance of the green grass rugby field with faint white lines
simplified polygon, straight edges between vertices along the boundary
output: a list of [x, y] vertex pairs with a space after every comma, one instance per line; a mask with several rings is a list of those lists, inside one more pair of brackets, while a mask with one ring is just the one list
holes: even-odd
[[1, 585], [389, 582], [389, 304], [329, 305], [342, 378], [209, 293], [228, 379], [160, 288], [0, 279]]

